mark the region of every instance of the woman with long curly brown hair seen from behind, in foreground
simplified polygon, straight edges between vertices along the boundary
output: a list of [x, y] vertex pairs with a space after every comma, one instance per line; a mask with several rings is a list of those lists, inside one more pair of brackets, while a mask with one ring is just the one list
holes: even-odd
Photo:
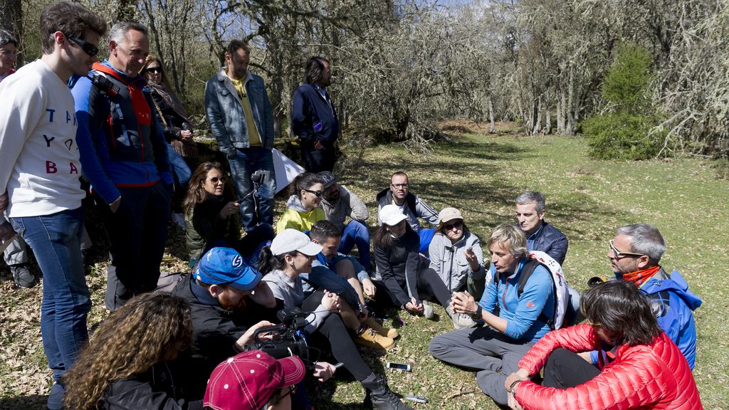
[[190, 305], [183, 298], [145, 293], [130, 299], [101, 322], [64, 376], [66, 407], [202, 409], [202, 401], [185, 401], [171, 371], [191, 340]]

